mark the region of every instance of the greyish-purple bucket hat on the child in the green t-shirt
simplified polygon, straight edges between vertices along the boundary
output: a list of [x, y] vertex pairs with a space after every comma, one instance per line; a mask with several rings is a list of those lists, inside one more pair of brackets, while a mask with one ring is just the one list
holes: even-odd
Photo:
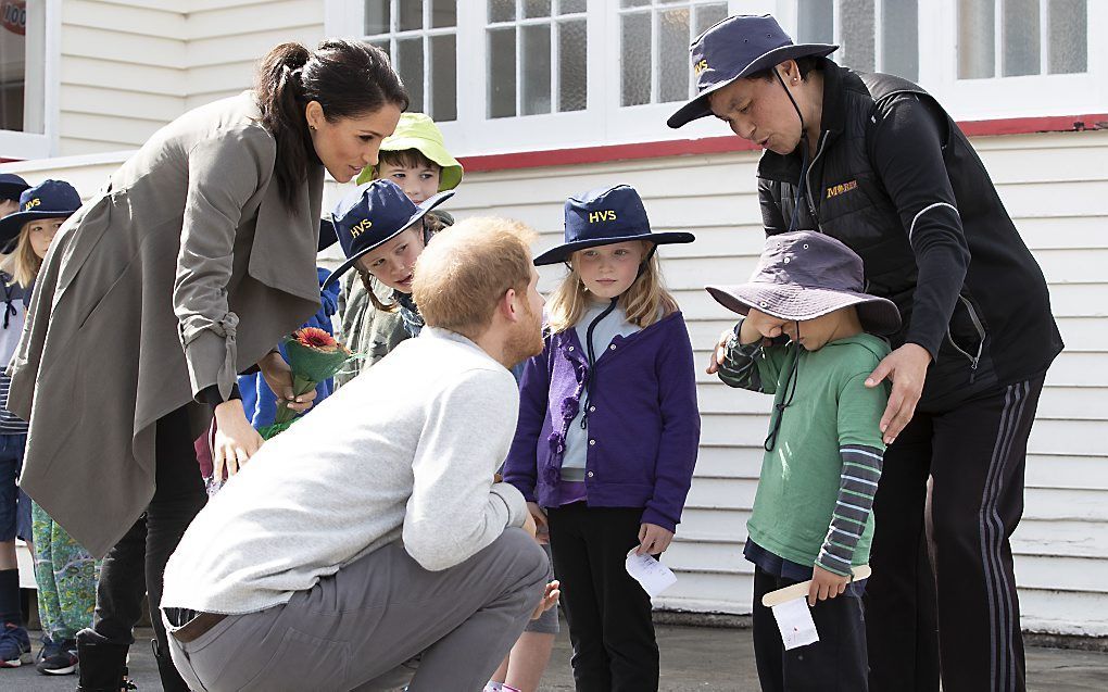
[[782, 320], [811, 320], [854, 306], [865, 331], [888, 335], [901, 328], [891, 300], [864, 292], [862, 258], [812, 230], [770, 236], [753, 276], [738, 286], [706, 286], [721, 306], [747, 314], [751, 308]]

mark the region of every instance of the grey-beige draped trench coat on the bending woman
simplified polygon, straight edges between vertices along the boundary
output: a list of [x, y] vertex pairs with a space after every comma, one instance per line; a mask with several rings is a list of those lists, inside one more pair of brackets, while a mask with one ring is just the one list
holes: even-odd
[[[154, 494], [154, 423], [197, 435], [281, 335], [319, 308], [322, 167], [290, 215], [250, 92], [151, 137], [63, 225], [34, 287], [9, 407], [30, 421], [21, 485], [104, 555]], [[198, 473], [198, 471], [197, 471]]]

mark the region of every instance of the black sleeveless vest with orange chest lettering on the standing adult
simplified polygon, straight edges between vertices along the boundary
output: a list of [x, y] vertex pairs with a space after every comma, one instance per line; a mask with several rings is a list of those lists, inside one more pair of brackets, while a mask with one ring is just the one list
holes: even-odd
[[[937, 104], [906, 80], [856, 74], [831, 61], [823, 64], [822, 133], [797, 210], [797, 228], [828, 234], [861, 256], [866, 292], [889, 298], [900, 309], [904, 327], [891, 337], [896, 348], [911, 324], [919, 272], [909, 229], [872, 164], [871, 156], [882, 153], [871, 151], [866, 133], [899, 94], [916, 94], [936, 109]], [[950, 116], [946, 121], [943, 156], [971, 261], [921, 405], [1044, 372], [1063, 347], [1038, 264], [970, 141]], [[761, 158], [759, 193], [767, 234], [788, 230], [800, 165], [799, 151], [766, 152]]]

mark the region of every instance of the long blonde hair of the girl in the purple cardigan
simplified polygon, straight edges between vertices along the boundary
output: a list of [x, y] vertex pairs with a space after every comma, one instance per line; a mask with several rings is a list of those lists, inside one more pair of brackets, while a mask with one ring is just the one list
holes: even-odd
[[[588, 289], [585, 288], [585, 282], [573, 264], [582, 251], [577, 250], [571, 256], [570, 273], [562, 279], [562, 283], [554, 289], [546, 303], [546, 328], [551, 333], [572, 329], [581, 321], [581, 317], [592, 302]], [[627, 313], [627, 321], [639, 329], [645, 329], [678, 310], [677, 301], [666, 290], [661, 279], [661, 264], [657, 254], [646, 260], [643, 272], [632, 282], [630, 288], [619, 296], [617, 304]]]

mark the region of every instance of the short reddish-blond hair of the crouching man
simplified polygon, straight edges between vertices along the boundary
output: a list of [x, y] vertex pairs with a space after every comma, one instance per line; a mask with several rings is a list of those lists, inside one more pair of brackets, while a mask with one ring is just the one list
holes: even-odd
[[520, 221], [495, 217], [468, 218], [440, 231], [416, 260], [412, 298], [424, 323], [480, 337], [509, 289], [526, 295], [535, 236]]

